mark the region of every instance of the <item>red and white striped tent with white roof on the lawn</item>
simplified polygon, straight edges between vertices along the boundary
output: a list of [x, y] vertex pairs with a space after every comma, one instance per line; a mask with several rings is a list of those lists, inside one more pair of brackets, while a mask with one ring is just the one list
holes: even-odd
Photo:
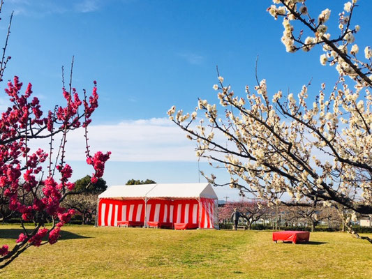
[[111, 186], [98, 196], [98, 226], [130, 221], [218, 229], [218, 197], [209, 183]]

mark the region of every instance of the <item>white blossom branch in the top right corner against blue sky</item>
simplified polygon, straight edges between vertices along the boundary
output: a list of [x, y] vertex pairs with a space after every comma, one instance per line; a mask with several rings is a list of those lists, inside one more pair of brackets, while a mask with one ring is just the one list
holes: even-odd
[[[278, 17], [283, 17], [283, 37], [281, 38], [287, 52], [296, 52], [297, 50], [310, 51], [315, 45], [322, 45], [322, 50], [325, 52], [320, 55], [320, 63], [325, 66], [335, 66], [340, 75], [348, 75], [353, 80], [363, 83], [366, 82], [369, 86], [372, 85], [371, 70], [363, 71], [361, 69], [371, 69], [372, 52], [369, 46], [364, 47], [363, 61], [357, 57], [359, 46], [355, 44], [355, 34], [360, 30], [359, 25], [352, 27], [351, 17], [353, 10], [356, 7], [357, 0], [348, 1], [343, 6], [343, 11], [338, 14], [338, 36], [331, 38], [328, 33], [327, 22], [331, 17], [331, 10], [325, 8], [316, 17], [309, 13], [305, 1], [293, 0], [274, 0], [267, 11], [275, 20]], [[295, 26], [292, 21], [300, 20], [308, 30], [299, 31], [299, 35], [295, 35]], [[361, 75], [362, 74], [362, 75]]]

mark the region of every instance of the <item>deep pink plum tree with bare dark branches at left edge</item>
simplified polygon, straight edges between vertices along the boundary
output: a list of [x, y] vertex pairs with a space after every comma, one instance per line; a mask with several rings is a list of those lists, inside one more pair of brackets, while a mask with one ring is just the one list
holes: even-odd
[[[3, 1], [0, 1], [0, 10], [2, 5]], [[0, 62], [0, 80], [3, 80], [6, 64], [10, 60], [10, 56], [6, 58], [6, 45]], [[91, 114], [98, 107], [97, 86], [94, 82], [91, 96], [88, 97], [84, 91], [81, 98], [71, 86], [72, 68], [73, 64], [68, 89], [65, 86], [62, 88], [65, 105], [56, 106], [46, 113], [38, 98], [32, 97], [30, 83], [24, 86], [18, 77], [14, 77], [5, 89], [12, 105], [0, 116], [0, 201], [10, 211], [22, 216], [23, 232], [13, 247], [0, 246], [0, 269], [31, 246], [56, 243], [61, 227], [74, 214], [73, 209], [61, 206], [75, 187], [69, 181], [73, 169], [66, 163], [68, 132], [77, 128], [85, 130], [87, 163], [94, 169], [92, 183], [103, 176], [105, 162], [110, 157], [110, 152], [99, 151], [93, 156], [89, 152], [87, 126], [91, 123]], [[61, 142], [55, 146], [54, 137], [57, 134], [61, 135]], [[49, 150], [31, 150], [30, 142], [46, 138], [50, 139]], [[26, 222], [33, 225], [26, 226]]]

